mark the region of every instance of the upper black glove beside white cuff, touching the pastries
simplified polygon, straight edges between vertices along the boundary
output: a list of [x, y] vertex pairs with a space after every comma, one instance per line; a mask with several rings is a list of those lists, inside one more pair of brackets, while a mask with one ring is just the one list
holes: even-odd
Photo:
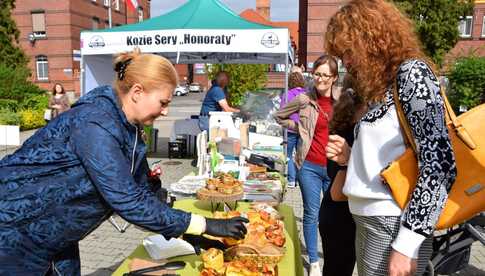
[[248, 230], [244, 223], [249, 220], [243, 217], [230, 219], [211, 219], [206, 218], [205, 233], [215, 237], [229, 237], [233, 239], [243, 239]]

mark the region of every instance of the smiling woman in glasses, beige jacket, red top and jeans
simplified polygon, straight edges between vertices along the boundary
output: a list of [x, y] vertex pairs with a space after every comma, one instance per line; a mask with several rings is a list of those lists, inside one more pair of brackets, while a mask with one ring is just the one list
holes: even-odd
[[[322, 274], [318, 257], [318, 214], [320, 196], [330, 182], [325, 147], [337, 74], [338, 65], [333, 57], [319, 57], [315, 61], [311, 90], [296, 96], [275, 114], [280, 125], [296, 130], [300, 135], [295, 163], [303, 198], [303, 236], [310, 260], [310, 276]], [[290, 118], [295, 112], [299, 115], [298, 123]]]

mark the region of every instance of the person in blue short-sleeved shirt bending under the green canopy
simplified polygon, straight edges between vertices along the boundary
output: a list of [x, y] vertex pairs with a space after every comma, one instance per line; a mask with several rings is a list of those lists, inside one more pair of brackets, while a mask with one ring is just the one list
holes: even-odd
[[217, 73], [215, 82], [207, 91], [199, 114], [199, 128], [209, 133], [209, 113], [213, 111], [239, 112], [239, 109], [230, 107], [226, 100], [224, 90], [229, 84], [229, 75], [221, 71]]

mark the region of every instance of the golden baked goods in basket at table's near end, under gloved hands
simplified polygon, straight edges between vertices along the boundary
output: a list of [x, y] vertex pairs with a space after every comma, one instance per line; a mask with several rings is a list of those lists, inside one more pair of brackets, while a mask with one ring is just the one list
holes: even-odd
[[[214, 212], [214, 218], [246, 217], [248, 230], [242, 240], [216, 238], [228, 248], [209, 249], [202, 254], [203, 276], [276, 276], [277, 264], [285, 255], [284, 223], [269, 204], [257, 203], [247, 212]], [[206, 236], [206, 235], [204, 235]], [[223, 268], [221, 268], [221, 266]]]

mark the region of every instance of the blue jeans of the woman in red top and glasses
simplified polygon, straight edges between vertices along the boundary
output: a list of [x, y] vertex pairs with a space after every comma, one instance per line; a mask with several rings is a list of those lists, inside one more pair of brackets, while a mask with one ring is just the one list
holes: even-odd
[[318, 262], [320, 195], [330, 185], [327, 167], [305, 161], [298, 173], [303, 198], [303, 237], [310, 263]]

